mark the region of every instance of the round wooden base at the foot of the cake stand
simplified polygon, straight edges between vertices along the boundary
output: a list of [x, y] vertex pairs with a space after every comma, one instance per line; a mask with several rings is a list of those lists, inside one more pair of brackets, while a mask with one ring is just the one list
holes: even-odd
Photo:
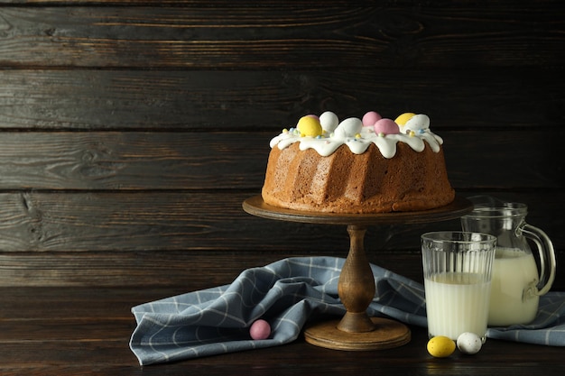
[[410, 329], [394, 320], [371, 317], [375, 329], [370, 332], [345, 332], [338, 329], [340, 320], [325, 321], [304, 330], [307, 343], [333, 350], [384, 350], [410, 342]]

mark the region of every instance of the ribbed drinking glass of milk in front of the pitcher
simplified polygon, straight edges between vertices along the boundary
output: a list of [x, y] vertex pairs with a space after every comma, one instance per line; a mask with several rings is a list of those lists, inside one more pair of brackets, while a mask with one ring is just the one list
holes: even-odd
[[486, 340], [496, 237], [445, 231], [421, 235], [428, 335], [465, 332]]

